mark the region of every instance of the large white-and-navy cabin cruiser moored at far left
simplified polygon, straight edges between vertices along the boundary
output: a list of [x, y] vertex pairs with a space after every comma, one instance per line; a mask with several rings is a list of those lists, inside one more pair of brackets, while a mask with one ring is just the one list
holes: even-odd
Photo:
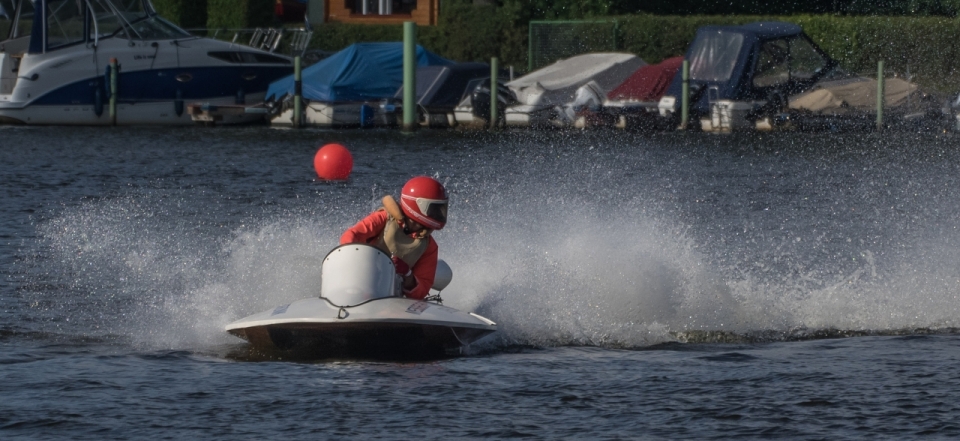
[[[292, 59], [189, 34], [149, 0], [0, 0], [0, 123], [192, 124], [185, 103], [263, 100]], [[111, 117], [111, 60], [119, 66]], [[224, 115], [221, 123], [265, 120]]]

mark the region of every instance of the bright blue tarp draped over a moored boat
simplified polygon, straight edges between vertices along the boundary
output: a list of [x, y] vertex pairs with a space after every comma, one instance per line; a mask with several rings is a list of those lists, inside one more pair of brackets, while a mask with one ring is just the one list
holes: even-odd
[[[453, 61], [417, 46], [417, 66]], [[346, 102], [390, 98], [403, 85], [403, 43], [355, 43], [303, 70], [303, 97]], [[293, 95], [293, 75], [270, 84], [265, 100]]]

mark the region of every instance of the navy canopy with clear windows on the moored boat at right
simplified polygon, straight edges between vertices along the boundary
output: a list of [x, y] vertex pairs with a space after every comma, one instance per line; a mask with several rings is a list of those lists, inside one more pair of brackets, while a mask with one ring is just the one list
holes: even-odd
[[[800, 26], [784, 22], [701, 27], [686, 59], [691, 109], [700, 113], [708, 111], [711, 100], [785, 103], [836, 66]], [[681, 88], [678, 72], [667, 95], [679, 97]]]

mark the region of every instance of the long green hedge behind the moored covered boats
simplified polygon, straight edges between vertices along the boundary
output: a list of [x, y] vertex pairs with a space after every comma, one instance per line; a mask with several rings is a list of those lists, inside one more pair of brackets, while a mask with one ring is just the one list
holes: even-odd
[[[209, 0], [213, 2], [214, 0]], [[505, 2], [506, 3], [506, 2]], [[445, 3], [437, 26], [420, 26], [418, 42], [456, 61], [489, 61], [527, 66], [527, 24], [519, 8]], [[599, 19], [599, 18], [595, 18]], [[795, 23], [840, 66], [875, 75], [884, 60], [888, 74], [909, 75], [922, 86], [941, 91], [960, 88], [960, 19], [947, 17], [798, 16], [664, 16], [616, 17], [618, 49], [650, 63], [686, 52], [704, 25], [733, 25], [760, 20]], [[315, 28], [311, 48], [340, 50], [361, 41], [400, 41], [400, 25], [325, 23]]]

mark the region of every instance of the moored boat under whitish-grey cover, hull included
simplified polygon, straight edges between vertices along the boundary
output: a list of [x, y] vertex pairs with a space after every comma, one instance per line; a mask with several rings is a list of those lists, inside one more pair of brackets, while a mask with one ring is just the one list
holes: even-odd
[[[508, 126], [572, 123], [570, 106], [581, 95], [606, 91], [646, 63], [633, 54], [590, 53], [560, 60], [507, 83], [517, 104], [507, 108]], [[565, 108], [566, 107], [566, 108]]]

